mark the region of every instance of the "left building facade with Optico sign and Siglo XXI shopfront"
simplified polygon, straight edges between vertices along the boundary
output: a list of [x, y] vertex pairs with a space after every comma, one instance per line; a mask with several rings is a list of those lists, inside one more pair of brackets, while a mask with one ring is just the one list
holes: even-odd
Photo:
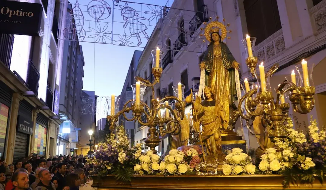
[[[66, 2], [66, 1], [63, 1]], [[17, 24], [36, 23], [25, 31], [11, 25], [11, 33], [0, 24], [0, 153], [7, 163], [17, 161], [30, 153], [49, 157], [56, 153], [56, 136], [61, 121], [57, 116], [60, 91], [60, 72], [63, 42], [58, 40], [60, 1], [3, 2], [2, 7], [25, 8], [42, 12], [36, 19]], [[1, 7], [1, 8], [2, 8]], [[18, 19], [8, 17], [5, 18]], [[8, 22], [7, 22], [8, 23]], [[37, 25], [38, 23], [38, 25]]]

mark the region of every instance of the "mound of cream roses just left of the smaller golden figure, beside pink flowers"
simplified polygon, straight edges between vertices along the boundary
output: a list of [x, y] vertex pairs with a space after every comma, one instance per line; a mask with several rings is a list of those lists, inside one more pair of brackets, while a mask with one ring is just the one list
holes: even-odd
[[190, 167], [184, 159], [185, 153], [178, 150], [170, 150], [169, 154], [164, 157], [160, 163], [159, 169], [162, 175], [181, 175], [190, 171]]

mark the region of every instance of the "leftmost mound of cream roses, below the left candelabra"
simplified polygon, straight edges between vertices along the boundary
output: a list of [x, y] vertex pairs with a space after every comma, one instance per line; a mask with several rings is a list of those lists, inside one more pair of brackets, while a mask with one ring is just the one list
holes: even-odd
[[145, 154], [141, 155], [138, 160], [139, 164], [134, 166], [136, 174], [156, 174], [159, 172], [161, 157], [154, 154], [153, 151], [147, 151]]

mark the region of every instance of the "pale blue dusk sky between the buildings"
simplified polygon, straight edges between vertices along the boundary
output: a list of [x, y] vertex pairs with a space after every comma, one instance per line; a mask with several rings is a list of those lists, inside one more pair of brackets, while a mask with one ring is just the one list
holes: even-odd
[[[80, 8], [83, 12], [83, 15], [86, 15], [87, 12], [85, 9], [87, 9], [87, 5], [90, 2], [96, 2], [96, 0], [90, 1], [90, 0], [79, 0], [78, 3], [80, 4]], [[101, 0], [98, 0], [100, 2]], [[72, 3], [72, 6], [74, 7], [75, 0], [70, 1]], [[112, 1], [106, 0], [106, 2], [111, 6]], [[157, 6], [171, 6], [173, 0], [131, 0], [130, 2], [137, 2], [137, 3], [144, 3], [144, 4], [152, 4]], [[119, 5], [124, 5], [124, 2], [120, 2]], [[97, 3], [96, 3], [97, 5]], [[137, 12], [138, 11], [150, 11], [147, 5], [137, 5], [129, 3], [128, 6], [134, 8]], [[84, 8], [83, 8], [84, 7]], [[112, 6], [111, 6], [112, 8]], [[113, 9], [113, 8], [112, 8]], [[145, 10], [146, 9], [146, 10]], [[84, 13], [85, 11], [85, 13]], [[126, 29], [122, 27], [122, 24], [125, 23], [125, 21], [121, 17], [121, 8], [118, 6], [114, 6], [114, 13], [112, 11], [111, 16], [114, 17], [113, 21], [113, 43], [112, 44], [101, 44], [101, 43], [90, 43], [90, 42], [80, 42], [83, 49], [84, 54], [84, 60], [85, 60], [85, 66], [84, 66], [84, 88], [83, 90], [89, 90], [89, 91], [95, 91], [95, 94], [98, 96], [110, 96], [111, 94], [119, 95], [121, 93], [126, 73], [129, 68], [132, 55], [135, 50], [143, 50], [143, 48], [139, 47], [127, 47], [127, 46], [121, 46], [118, 45], [119, 43], [114, 42], [114, 40], [118, 37], [117, 34], [120, 34], [123, 36], [124, 33], [126, 35], [130, 35], [129, 32], [129, 25], [127, 25]], [[154, 29], [154, 26], [156, 24], [155, 19], [153, 19], [152, 22], [149, 22], [149, 18], [151, 15], [146, 15], [139, 13], [140, 16], [147, 18], [146, 21], [143, 22], [148, 29], [146, 30], [146, 33], [148, 36], [151, 36], [152, 31]], [[88, 16], [88, 15], [86, 15]], [[85, 16], [85, 20], [87, 19]], [[119, 18], [121, 17], [121, 18]], [[89, 20], [92, 20], [90, 18]], [[94, 19], [93, 19], [94, 20]], [[104, 21], [105, 22], [111, 22], [111, 21]], [[119, 23], [121, 22], [121, 23]], [[85, 22], [86, 23], [86, 22]], [[95, 22], [93, 22], [95, 23]], [[111, 22], [112, 23], [112, 22]], [[149, 25], [147, 25], [149, 23]], [[120, 25], [119, 25], [120, 24]], [[85, 24], [86, 25], [86, 24]], [[91, 24], [90, 24], [91, 25]], [[110, 26], [109, 26], [110, 27]], [[84, 26], [84, 29], [86, 30], [87, 27]], [[94, 27], [95, 28], [95, 27]], [[102, 28], [103, 29], [103, 28]], [[87, 30], [86, 30], [87, 31]], [[86, 34], [87, 36], [87, 34]], [[134, 42], [133, 46], [137, 46], [137, 38], [134, 37], [135, 35], [132, 35], [131, 41]], [[142, 44], [140, 47], [145, 47], [147, 43], [147, 39], [140, 34]], [[134, 39], [134, 40], [132, 40]], [[96, 37], [93, 38], [93, 40], [96, 40]], [[87, 41], [86, 38], [83, 41]], [[130, 40], [128, 40], [130, 41]], [[113, 45], [117, 44], [117, 45]]]

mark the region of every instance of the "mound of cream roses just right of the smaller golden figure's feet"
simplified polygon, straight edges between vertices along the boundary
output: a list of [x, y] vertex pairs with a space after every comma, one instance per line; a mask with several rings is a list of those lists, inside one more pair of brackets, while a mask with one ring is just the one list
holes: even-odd
[[256, 171], [256, 166], [252, 164], [251, 157], [244, 153], [241, 148], [232, 149], [225, 159], [222, 166], [225, 175], [254, 174]]

